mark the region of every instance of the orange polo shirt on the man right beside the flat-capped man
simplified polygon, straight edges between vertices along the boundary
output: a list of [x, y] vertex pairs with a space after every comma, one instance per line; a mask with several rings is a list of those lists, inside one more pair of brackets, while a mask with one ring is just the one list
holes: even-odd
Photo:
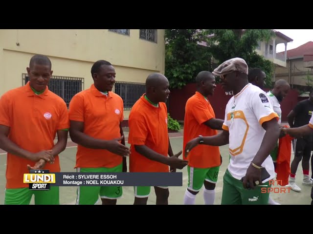
[[[196, 92], [187, 100], [185, 106], [183, 149], [185, 149], [188, 141], [199, 135], [203, 137], [217, 135], [217, 130], [203, 124], [211, 118], [215, 118], [215, 114], [210, 102], [199, 92]], [[184, 154], [183, 157], [185, 159]], [[197, 145], [189, 152], [187, 160], [189, 166], [196, 168], [220, 166], [220, 149], [218, 146]]]

